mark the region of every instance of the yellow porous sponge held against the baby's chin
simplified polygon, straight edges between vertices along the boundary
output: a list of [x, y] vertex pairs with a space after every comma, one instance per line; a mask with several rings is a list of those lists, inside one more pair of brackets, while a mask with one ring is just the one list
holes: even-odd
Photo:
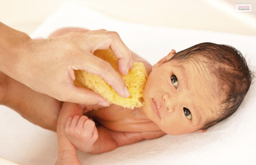
[[[111, 66], [117, 71], [118, 58], [115, 57], [111, 49], [96, 50], [94, 53], [97, 57], [109, 62]], [[118, 73], [119, 74], [119, 73]], [[120, 74], [119, 74], [120, 75]], [[120, 105], [124, 108], [141, 107], [143, 103], [144, 88], [147, 81], [147, 72], [142, 62], [134, 62], [133, 68], [129, 70], [128, 75], [120, 75], [124, 80], [130, 96], [123, 98], [119, 96], [115, 90], [106, 83], [100, 76], [93, 75], [86, 71], [75, 70], [75, 85], [84, 88], [92, 89], [94, 92], [100, 94], [109, 103]]]

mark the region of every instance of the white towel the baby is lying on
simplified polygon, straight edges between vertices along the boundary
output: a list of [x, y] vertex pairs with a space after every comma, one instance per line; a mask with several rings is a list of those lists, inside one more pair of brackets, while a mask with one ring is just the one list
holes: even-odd
[[[58, 28], [70, 26], [116, 31], [129, 49], [151, 64], [171, 49], [178, 52], [202, 42], [228, 44], [239, 49], [255, 71], [254, 36], [132, 24], [114, 20], [78, 3], [63, 5], [31, 37], [47, 37]], [[206, 133], [165, 135], [97, 155], [78, 152], [79, 159], [82, 164], [94, 165], [256, 164], [255, 95], [256, 85], [252, 84], [237, 112]], [[19, 164], [54, 164], [58, 157], [56, 133], [28, 122], [4, 106], [0, 106], [0, 116], [0, 156]]]

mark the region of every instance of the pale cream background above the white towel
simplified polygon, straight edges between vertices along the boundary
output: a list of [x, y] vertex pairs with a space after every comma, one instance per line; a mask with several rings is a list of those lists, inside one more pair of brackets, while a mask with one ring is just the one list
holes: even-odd
[[[69, 0], [1, 0], [0, 21], [31, 34]], [[256, 36], [255, 0], [80, 0], [115, 19], [155, 26], [230, 32]], [[236, 4], [252, 4], [252, 12], [236, 12]], [[104, 27], [102, 27], [104, 28]]]

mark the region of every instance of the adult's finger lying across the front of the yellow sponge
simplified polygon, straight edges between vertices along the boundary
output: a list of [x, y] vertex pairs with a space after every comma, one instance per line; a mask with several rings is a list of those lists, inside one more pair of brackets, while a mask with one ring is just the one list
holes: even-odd
[[[130, 96], [130, 92], [126, 87], [124, 80], [108, 62], [88, 52], [88, 55], [81, 54], [77, 63], [78, 65], [74, 66], [72, 69], [85, 70], [93, 75], [98, 75], [105, 80], [107, 84], [112, 86], [116, 93], [118, 93], [121, 97], [126, 98]], [[81, 92], [82, 90], [80, 93]], [[100, 99], [99, 97], [97, 98]], [[98, 104], [95, 100], [92, 101], [94, 102], [92, 102], [90, 105]]]

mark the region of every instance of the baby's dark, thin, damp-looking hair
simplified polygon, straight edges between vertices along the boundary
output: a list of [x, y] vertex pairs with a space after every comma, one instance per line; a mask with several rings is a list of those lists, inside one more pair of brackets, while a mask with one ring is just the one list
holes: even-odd
[[220, 93], [225, 95], [221, 102], [220, 114], [209, 119], [198, 130], [207, 129], [232, 115], [250, 88], [251, 71], [241, 52], [232, 46], [200, 43], [174, 54], [168, 61], [172, 60], [196, 60], [207, 63], [209, 71], [219, 79]]

